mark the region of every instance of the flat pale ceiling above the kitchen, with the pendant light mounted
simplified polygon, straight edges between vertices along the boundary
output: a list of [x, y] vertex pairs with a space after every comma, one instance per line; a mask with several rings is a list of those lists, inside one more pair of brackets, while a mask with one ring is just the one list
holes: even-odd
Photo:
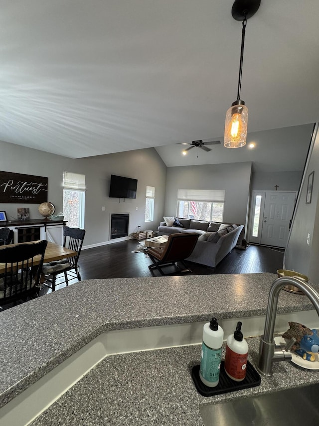
[[[242, 29], [232, 4], [2, 2], [0, 140], [71, 158], [162, 145], [179, 158], [178, 142], [223, 140]], [[250, 133], [318, 121], [318, 0], [262, 0], [247, 22], [241, 98]], [[217, 150], [219, 162], [240, 151]]]

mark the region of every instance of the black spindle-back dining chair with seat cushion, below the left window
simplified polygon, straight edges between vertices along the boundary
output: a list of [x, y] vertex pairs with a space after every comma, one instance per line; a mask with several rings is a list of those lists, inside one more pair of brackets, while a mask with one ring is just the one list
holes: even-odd
[[82, 244], [85, 236], [85, 229], [63, 228], [63, 247], [76, 251], [76, 255], [67, 259], [53, 260], [49, 263], [44, 263], [42, 274], [44, 275], [44, 285], [49, 287], [52, 292], [55, 291], [56, 277], [59, 274], [64, 274], [64, 281], [59, 284], [66, 283], [69, 285], [69, 279], [77, 278], [81, 281], [80, 265], [78, 264]]

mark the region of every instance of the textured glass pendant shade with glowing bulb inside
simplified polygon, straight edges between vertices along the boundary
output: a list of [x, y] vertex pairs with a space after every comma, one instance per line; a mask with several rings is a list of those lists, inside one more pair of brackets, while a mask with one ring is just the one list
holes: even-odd
[[232, 105], [226, 112], [224, 146], [240, 148], [246, 145], [248, 108], [244, 104]]

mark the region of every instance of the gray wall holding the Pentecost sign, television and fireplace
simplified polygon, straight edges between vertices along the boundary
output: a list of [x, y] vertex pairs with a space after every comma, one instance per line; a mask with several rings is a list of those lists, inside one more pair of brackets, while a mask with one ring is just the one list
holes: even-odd
[[[48, 177], [48, 201], [55, 205], [57, 212], [62, 211], [63, 171], [85, 174], [85, 246], [109, 241], [111, 213], [130, 213], [130, 234], [138, 225], [141, 229], [156, 230], [162, 220], [167, 168], [154, 148], [73, 160], [0, 142], [0, 152], [1, 171]], [[111, 174], [138, 179], [137, 198], [125, 202], [109, 198]], [[145, 223], [147, 185], [155, 187], [156, 198], [154, 222]], [[105, 211], [102, 211], [102, 206], [105, 206]], [[37, 204], [0, 203], [0, 209], [6, 211], [9, 220], [17, 218], [17, 207], [29, 207], [31, 219], [41, 218]]]

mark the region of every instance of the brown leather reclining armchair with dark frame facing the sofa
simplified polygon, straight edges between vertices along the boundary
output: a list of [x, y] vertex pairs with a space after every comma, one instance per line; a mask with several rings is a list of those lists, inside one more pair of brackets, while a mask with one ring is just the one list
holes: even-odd
[[[160, 275], [174, 275], [181, 272], [192, 272], [185, 264], [184, 259], [190, 256], [194, 250], [199, 234], [195, 232], [170, 234], [167, 243], [163, 247], [149, 247], [146, 253], [150, 256], [153, 264], [149, 266], [154, 275], [154, 269], [160, 272]], [[180, 268], [177, 262], [181, 263], [184, 269]], [[175, 271], [166, 274], [166, 266], [174, 266]]]

